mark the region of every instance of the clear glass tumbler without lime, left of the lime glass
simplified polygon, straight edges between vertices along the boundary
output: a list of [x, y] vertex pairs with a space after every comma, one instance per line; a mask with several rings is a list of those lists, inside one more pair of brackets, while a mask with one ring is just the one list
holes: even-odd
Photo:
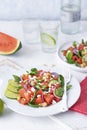
[[33, 43], [40, 42], [39, 21], [24, 19], [23, 34], [25, 43], [32, 45]]

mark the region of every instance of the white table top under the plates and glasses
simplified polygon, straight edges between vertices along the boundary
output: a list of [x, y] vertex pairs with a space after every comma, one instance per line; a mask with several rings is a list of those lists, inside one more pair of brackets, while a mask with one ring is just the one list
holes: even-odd
[[[44, 53], [41, 51], [40, 43], [34, 43], [33, 45], [26, 44], [24, 42], [22, 21], [0, 21], [0, 31], [8, 33], [22, 41], [22, 49], [11, 56], [0, 56], [0, 62], [9, 59], [10, 61], [18, 64], [19, 66], [28, 68], [29, 65], [58, 65], [57, 52], [56, 53]], [[58, 36], [58, 46], [66, 42], [67, 40], [78, 40], [85, 38], [87, 40], [87, 22], [81, 22], [81, 32], [76, 35], [65, 35], [59, 30]], [[53, 58], [52, 58], [53, 57]], [[86, 73], [75, 72], [71, 70], [71, 73], [79, 80], [79, 82], [84, 79]], [[72, 127], [75, 130], [83, 130], [83, 127], [87, 129], [87, 116], [74, 112], [68, 111], [62, 114], [57, 114], [55, 117], [63, 122], [64, 124]], [[48, 129], [58, 129], [64, 130], [65, 126], [59, 125], [51, 120], [50, 117], [26, 117], [11, 111], [7, 106], [5, 106], [5, 113], [0, 116], [0, 130], [48, 130]], [[85, 130], [86, 130], [85, 129]], [[67, 130], [69, 130], [67, 128]]]

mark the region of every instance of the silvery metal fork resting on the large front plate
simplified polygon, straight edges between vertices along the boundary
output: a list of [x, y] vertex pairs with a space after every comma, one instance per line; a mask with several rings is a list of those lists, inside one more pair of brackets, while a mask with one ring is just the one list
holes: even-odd
[[64, 94], [62, 97], [62, 112], [68, 110], [68, 100], [67, 100], [67, 84], [70, 82], [71, 75], [70, 72], [64, 72]]

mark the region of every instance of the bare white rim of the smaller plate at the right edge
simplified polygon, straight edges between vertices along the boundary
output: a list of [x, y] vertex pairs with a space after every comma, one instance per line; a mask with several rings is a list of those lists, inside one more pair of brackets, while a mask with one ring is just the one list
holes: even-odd
[[80, 68], [74, 64], [69, 64], [66, 62], [66, 58], [63, 56], [63, 53], [61, 52], [62, 50], [66, 50], [67, 48], [69, 48], [70, 46], [72, 46], [73, 41], [69, 41], [64, 43], [59, 49], [58, 49], [58, 58], [61, 60], [61, 62], [66, 65], [67, 67], [75, 70], [75, 71], [79, 71], [79, 72], [87, 72], [87, 67], [85, 68]]

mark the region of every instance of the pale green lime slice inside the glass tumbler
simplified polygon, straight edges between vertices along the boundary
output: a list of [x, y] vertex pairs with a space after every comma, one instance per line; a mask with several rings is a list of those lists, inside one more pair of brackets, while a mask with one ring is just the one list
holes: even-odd
[[54, 37], [52, 37], [51, 35], [49, 35], [47, 33], [41, 34], [41, 40], [43, 43], [45, 43], [49, 46], [54, 46], [56, 44], [56, 40], [54, 39]]

